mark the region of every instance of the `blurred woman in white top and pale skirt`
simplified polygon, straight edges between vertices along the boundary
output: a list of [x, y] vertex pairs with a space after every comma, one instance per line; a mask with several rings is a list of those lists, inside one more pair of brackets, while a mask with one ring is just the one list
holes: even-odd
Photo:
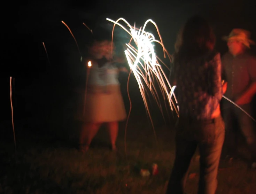
[[112, 150], [115, 151], [118, 122], [126, 119], [118, 73], [127, 69], [117, 68], [111, 62], [110, 41], [95, 42], [90, 48], [90, 54], [94, 59], [91, 60], [79, 149], [86, 152], [100, 126], [106, 123]]

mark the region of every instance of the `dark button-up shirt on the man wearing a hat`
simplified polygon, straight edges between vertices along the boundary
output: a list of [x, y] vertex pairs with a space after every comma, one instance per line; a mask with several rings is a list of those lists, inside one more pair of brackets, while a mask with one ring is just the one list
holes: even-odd
[[225, 96], [236, 100], [252, 82], [256, 82], [256, 58], [247, 53], [233, 56], [226, 53], [222, 57], [223, 78], [227, 81]]

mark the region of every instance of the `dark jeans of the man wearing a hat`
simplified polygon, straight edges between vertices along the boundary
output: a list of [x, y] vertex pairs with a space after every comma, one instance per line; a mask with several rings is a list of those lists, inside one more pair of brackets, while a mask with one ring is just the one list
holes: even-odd
[[[250, 104], [244, 104], [240, 107], [252, 116]], [[237, 131], [239, 130], [246, 139], [252, 160], [256, 161], [256, 134], [253, 119], [230, 102], [223, 103], [222, 115], [226, 126], [226, 138], [224, 142], [226, 152], [230, 152], [231, 155], [236, 154], [238, 146]]]

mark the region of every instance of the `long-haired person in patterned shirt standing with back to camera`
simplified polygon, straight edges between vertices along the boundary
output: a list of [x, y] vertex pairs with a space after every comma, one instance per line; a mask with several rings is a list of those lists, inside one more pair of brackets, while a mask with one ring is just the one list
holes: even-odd
[[200, 16], [191, 17], [178, 35], [170, 72], [176, 85], [179, 119], [176, 155], [166, 194], [183, 194], [189, 164], [200, 153], [199, 194], [214, 194], [225, 137], [220, 114], [222, 84], [220, 54], [214, 50], [215, 34]]

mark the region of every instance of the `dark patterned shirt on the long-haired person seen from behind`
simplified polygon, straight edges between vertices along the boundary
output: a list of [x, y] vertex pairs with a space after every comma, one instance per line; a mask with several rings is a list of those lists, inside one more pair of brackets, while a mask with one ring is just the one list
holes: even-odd
[[210, 119], [222, 99], [220, 54], [195, 57], [185, 65], [173, 64], [170, 83], [176, 83], [179, 115], [205, 120]]

